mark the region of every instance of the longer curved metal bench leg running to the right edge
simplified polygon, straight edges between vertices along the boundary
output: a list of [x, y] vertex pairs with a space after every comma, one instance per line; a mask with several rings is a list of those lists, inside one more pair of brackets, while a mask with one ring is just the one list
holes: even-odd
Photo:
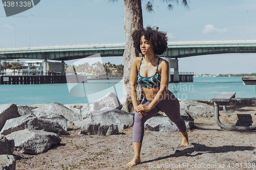
[[220, 122], [220, 118], [219, 118], [219, 106], [216, 105], [216, 103], [214, 103], [214, 113], [215, 113], [215, 121], [217, 123], [217, 125], [219, 125], [219, 127], [223, 128], [223, 129], [256, 129], [256, 124], [252, 125], [252, 126], [229, 126], [229, 125], [223, 125]]

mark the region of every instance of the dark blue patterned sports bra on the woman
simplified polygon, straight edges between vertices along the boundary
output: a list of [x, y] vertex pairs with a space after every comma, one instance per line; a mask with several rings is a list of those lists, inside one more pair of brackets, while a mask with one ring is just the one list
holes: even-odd
[[[142, 60], [143, 60], [143, 57], [140, 60], [140, 65], [141, 65]], [[143, 88], [160, 87], [161, 76], [159, 75], [159, 72], [158, 72], [159, 60], [160, 60], [160, 58], [158, 59], [158, 63], [157, 63], [157, 71], [156, 71], [155, 75], [151, 76], [151, 77], [140, 76], [140, 66], [139, 66], [138, 82], [140, 83], [141, 87], [143, 87]]]

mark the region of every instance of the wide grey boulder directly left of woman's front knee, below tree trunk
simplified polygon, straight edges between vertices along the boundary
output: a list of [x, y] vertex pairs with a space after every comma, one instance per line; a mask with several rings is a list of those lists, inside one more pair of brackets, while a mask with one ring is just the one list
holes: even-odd
[[129, 128], [134, 123], [134, 113], [128, 113], [119, 109], [113, 109], [95, 116], [92, 120], [96, 123], [114, 124], [119, 130]]

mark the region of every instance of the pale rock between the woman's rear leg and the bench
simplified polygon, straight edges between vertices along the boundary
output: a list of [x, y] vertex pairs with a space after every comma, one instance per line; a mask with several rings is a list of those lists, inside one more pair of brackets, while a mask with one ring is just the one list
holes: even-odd
[[187, 112], [191, 117], [212, 117], [214, 115], [214, 107], [204, 103], [195, 101], [182, 100], [180, 102], [181, 111]]

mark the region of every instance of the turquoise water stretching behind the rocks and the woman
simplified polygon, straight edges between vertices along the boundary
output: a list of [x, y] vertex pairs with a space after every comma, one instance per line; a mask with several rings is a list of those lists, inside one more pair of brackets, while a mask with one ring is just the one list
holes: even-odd
[[[71, 95], [69, 88], [74, 85], [76, 84], [0, 85], [0, 104], [91, 103], [111, 91], [117, 93], [119, 99], [122, 98], [122, 80], [89, 80], [84, 86], [80, 84], [82, 86], [73, 88]], [[194, 82], [171, 83], [169, 90], [177, 98], [187, 100], [212, 99], [223, 91], [236, 91], [236, 98], [255, 97], [255, 85], [243, 85], [241, 77], [195, 77]]]

